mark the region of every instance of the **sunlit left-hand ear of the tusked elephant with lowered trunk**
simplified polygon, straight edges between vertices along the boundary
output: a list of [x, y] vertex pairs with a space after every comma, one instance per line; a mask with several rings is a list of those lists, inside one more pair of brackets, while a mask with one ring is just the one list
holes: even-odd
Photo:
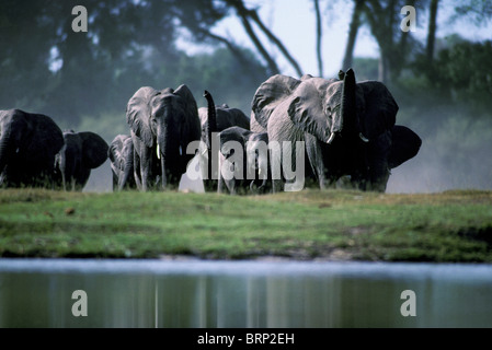
[[150, 130], [151, 102], [159, 94], [160, 92], [153, 88], [140, 88], [126, 106], [126, 121], [148, 148], [153, 145], [153, 136]]

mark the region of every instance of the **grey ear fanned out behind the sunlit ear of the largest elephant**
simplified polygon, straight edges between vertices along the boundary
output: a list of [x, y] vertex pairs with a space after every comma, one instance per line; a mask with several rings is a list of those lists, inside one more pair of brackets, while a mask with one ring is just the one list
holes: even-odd
[[[252, 118], [266, 129], [268, 118], [273, 110], [290, 97], [294, 90], [300, 84], [300, 80], [287, 75], [276, 74], [271, 77], [258, 88], [251, 103]], [[253, 115], [254, 114], [254, 115]]]

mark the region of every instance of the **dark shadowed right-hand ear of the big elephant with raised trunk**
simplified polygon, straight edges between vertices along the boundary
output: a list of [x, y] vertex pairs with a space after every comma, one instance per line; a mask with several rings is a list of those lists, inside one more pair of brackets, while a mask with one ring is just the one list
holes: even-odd
[[364, 95], [364, 109], [359, 117], [362, 132], [369, 140], [374, 140], [394, 126], [399, 107], [381, 82], [364, 81], [357, 83], [357, 90]]

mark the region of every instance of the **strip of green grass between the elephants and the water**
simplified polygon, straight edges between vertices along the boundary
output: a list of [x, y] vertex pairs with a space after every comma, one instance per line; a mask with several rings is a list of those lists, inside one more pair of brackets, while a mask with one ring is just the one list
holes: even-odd
[[0, 256], [492, 262], [492, 192], [0, 191]]

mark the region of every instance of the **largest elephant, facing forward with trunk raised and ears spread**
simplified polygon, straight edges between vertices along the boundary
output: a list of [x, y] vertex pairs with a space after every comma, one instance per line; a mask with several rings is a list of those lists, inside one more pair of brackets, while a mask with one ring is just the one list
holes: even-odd
[[[267, 130], [270, 142], [290, 141], [293, 149], [294, 142], [306, 142], [320, 188], [348, 175], [356, 188], [384, 191], [398, 104], [380, 82], [356, 83], [352, 69], [339, 77], [270, 78], [253, 97], [254, 119]], [[276, 152], [272, 164], [291, 155]], [[274, 191], [282, 183], [276, 176]]]

